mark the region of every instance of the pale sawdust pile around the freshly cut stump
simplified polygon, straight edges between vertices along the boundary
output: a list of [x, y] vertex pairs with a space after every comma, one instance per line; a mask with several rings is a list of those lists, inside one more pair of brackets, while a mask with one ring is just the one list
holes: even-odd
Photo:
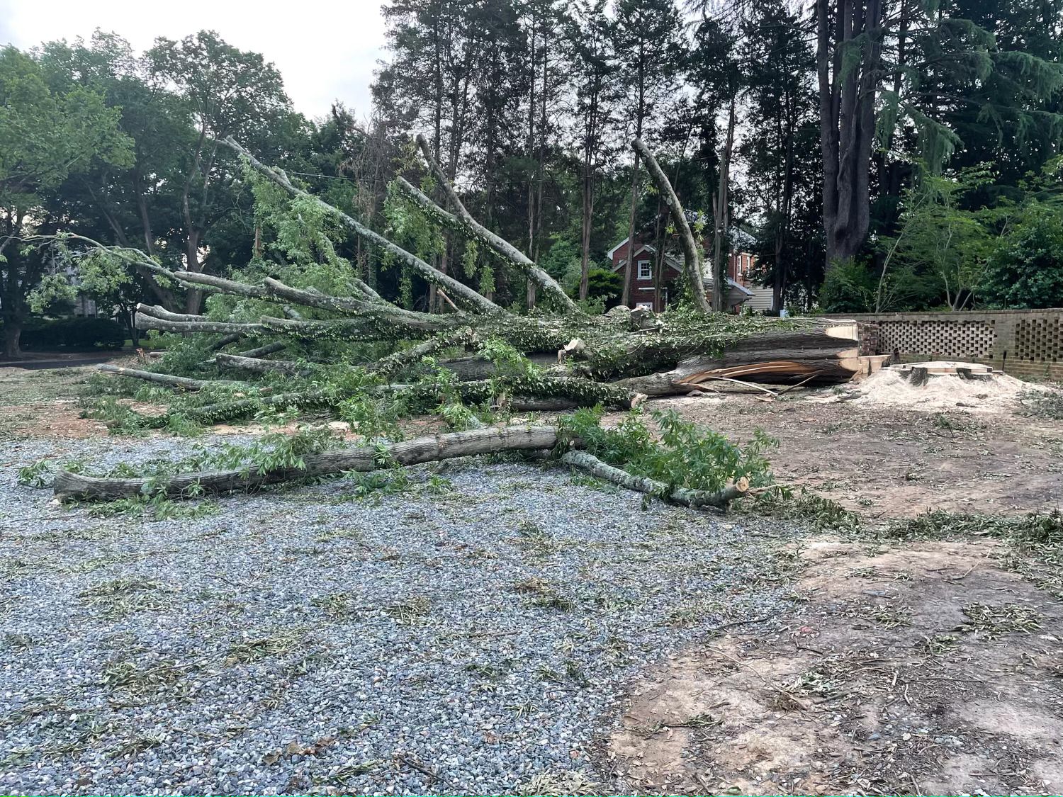
[[955, 374], [931, 374], [923, 385], [912, 385], [899, 371], [884, 368], [840, 396], [855, 404], [904, 406], [912, 409], [966, 409], [972, 412], [1012, 411], [1024, 393], [1047, 391], [1042, 385], [994, 373], [991, 379], [962, 379]]

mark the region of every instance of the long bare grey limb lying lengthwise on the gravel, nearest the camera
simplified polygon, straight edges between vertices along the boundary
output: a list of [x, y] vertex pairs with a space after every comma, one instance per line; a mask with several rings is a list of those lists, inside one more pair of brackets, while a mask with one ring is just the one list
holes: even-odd
[[201, 471], [168, 479], [103, 478], [61, 471], [52, 490], [58, 501], [113, 501], [147, 494], [189, 497], [200, 494], [252, 490], [293, 479], [328, 476], [344, 471], [367, 472], [393, 465], [435, 462], [502, 451], [552, 448], [557, 443], [553, 426], [489, 426], [469, 431], [417, 438], [400, 443], [340, 448], [303, 456], [302, 468], [263, 471], [255, 465], [226, 471]]

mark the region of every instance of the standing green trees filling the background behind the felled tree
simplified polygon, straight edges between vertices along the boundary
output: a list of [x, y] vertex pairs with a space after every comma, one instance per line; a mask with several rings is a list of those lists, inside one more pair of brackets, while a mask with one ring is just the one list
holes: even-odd
[[[634, 302], [626, 283], [607, 298], [602, 276], [625, 237], [654, 247], [655, 284], [665, 254], [679, 254], [663, 198], [628, 147], [635, 136], [658, 154], [706, 268], [738, 248], [754, 253], [754, 278], [776, 307], [1013, 306], [1000, 252], [1054, 268], [1012, 236], [1060, 193], [1063, 0], [395, 0], [383, 13], [372, 108], [337, 98], [315, 119], [292, 109], [272, 64], [212, 31], [144, 53], [102, 31], [6, 48], [7, 354], [41, 304], [31, 294], [57, 288], [84, 256], [70, 247], [61, 268], [34, 236], [145, 254], [121, 285], [86, 272], [82, 290], [118, 309], [148, 299], [200, 311], [201, 290], [166, 271], [283, 268], [291, 254], [266, 242], [269, 218], [239, 159], [219, 148], [227, 136], [442, 273], [525, 310], [542, 300], [526, 274], [403, 209], [400, 176], [443, 199], [415, 134], [488, 228], [534, 260], [563, 264], [557, 276], [576, 300]], [[410, 309], [453, 301], [356, 235], [330, 247], [300, 256], [336, 258]], [[1050, 295], [1035, 293], [1024, 303]]]

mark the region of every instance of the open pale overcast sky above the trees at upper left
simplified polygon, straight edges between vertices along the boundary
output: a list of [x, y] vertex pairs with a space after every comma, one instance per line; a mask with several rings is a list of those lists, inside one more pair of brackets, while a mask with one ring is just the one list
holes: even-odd
[[339, 99], [362, 117], [383, 54], [379, 10], [379, 0], [0, 0], [0, 44], [28, 49], [50, 39], [87, 39], [102, 28], [144, 51], [156, 36], [183, 38], [213, 29], [229, 44], [276, 64], [296, 108], [305, 115], [323, 116]]

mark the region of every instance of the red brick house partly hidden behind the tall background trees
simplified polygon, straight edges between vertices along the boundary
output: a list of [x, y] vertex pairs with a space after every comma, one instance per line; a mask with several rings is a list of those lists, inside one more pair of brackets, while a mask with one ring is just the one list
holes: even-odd
[[[743, 260], [741, 258], [747, 258]], [[629, 295], [631, 307], [645, 307], [655, 312], [662, 311], [669, 305], [670, 294], [673, 293], [679, 284], [674, 284], [682, 275], [682, 260], [664, 253], [664, 271], [661, 274], [658, 290], [654, 289], [654, 267], [657, 262], [657, 250], [648, 243], [636, 243], [632, 259], [635, 268], [627, 267], [627, 238], [609, 250], [609, 259], [612, 261], [612, 270], [621, 275], [622, 279], [627, 279], [629, 285]], [[740, 264], [745, 264], [744, 271], [740, 271]], [[742, 306], [754, 296], [752, 288], [745, 286], [745, 275], [753, 268], [753, 256], [746, 253], [736, 253], [729, 257], [727, 272], [727, 292], [725, 295], [727, 311], [738, 312]], [[705, 281], [706, 292], [711, 296], [712, 277]], [[771, 291], [769, 291], [771, 292]]]

